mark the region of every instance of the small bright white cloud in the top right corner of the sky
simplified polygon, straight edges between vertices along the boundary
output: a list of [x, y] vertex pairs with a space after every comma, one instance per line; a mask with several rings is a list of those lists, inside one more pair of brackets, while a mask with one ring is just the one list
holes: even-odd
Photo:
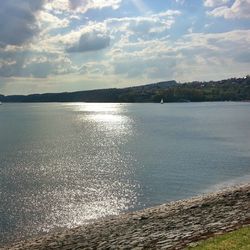
[[231, 7], [221, 6], [208, 14], [225, 19], [250, 19], [250, 0], [235, 0]]

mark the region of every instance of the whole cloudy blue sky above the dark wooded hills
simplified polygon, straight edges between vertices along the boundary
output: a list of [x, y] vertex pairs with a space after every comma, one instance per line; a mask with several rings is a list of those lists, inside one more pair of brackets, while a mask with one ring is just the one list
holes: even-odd
[[250, 0], [1, 0], [0, 94], [250, 73]]

